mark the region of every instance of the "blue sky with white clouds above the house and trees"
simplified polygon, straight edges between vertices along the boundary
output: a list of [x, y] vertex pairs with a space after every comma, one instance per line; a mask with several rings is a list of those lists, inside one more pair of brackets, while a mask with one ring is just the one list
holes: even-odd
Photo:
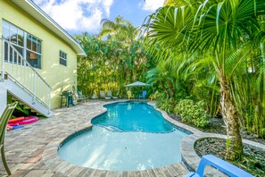
[[97, 34], [100, 21], [118, 15], [140, 26], [164, 0], [32, 0], [70, 34]]

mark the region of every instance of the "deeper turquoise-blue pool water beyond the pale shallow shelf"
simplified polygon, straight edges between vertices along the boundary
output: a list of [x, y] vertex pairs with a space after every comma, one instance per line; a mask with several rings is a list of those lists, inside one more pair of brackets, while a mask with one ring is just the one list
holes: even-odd
[[127, 102], [105, 106], [107, 113], [92, 120], [92, 124], [113, 131], [170, 132], [175, 129], [152, 105]]

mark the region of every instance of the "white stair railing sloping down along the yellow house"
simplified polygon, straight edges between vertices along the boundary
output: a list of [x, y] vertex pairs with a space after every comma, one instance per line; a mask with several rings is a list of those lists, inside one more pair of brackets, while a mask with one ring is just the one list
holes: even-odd
[[[30, 63], [20, 54], [12, 43], [0, 38], [2, 42], [2, 80], [4, 74], [32, 96], [32, 104], [38, 100], [50, 111], [52, 88], [46, 83]], [[3, 74], [4, 73], [4, 74]]]

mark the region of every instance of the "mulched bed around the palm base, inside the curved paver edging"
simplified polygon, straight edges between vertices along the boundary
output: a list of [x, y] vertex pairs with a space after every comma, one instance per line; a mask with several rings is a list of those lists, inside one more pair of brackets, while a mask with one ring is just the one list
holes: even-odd
[[[217, 138], [199, 139], [195, 143], [198, 156], [211, 154], [225, 159], [226, 140]], [[244, 155], [236, 162], [230, 162], [255, 176], [265, 176], [265, 152], [244, 144]]]

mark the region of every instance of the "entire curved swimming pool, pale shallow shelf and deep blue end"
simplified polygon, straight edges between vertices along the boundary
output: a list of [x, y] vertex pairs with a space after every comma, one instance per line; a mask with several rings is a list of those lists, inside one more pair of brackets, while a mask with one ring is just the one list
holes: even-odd
[[62, 159], [108, 171], [139, 171], [181, 161], [179, 143], [187, 134], [153, 106], [124, 102], [105, 107], [108, 111], [92, 120], [92, 130], [62, 144]]

